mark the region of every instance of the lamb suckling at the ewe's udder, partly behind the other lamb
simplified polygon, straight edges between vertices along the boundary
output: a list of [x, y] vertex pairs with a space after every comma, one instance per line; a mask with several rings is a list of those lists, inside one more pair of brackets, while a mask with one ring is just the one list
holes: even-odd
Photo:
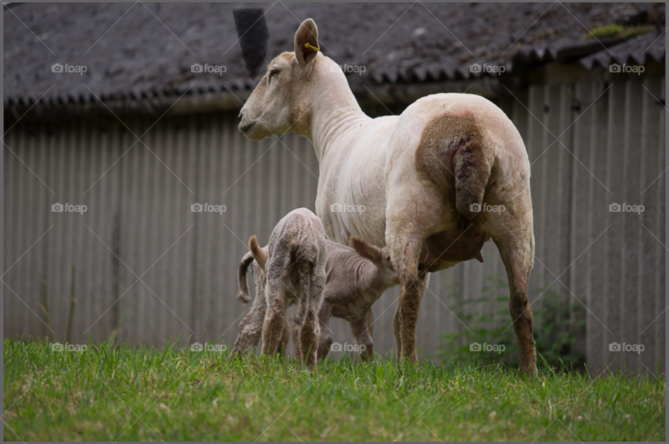
[[[318, 322], [321, 337], [318, 343], [318, 360], [323, 360], [330, 352], [332, 345], [332, 331], [330, 318], [332, 316], [348, 321], [351, 333], [360, 350], [362, 360], [367, 360], [374, 352], [374, 312], [371, 306], [380, 298], [381, 294], [391, 286], [399, 284], [399, 277], [390, 261], [390, 252], [387, 248], [377, 248], [364, 240], [351, 236], [351, 247], [325, 240], [328, 252], [325, 260], [325, 289], [323, 303], [318, 312]], [[268, 247], [263, 250], [267, 251]], [[261, 266], [253, 260], [251, 253], [245, 254], [239, 264], [238, 277], [240, 291], [237, 298], [243, 303], [249, 303], [248, 286], [246, 282], [247, 268], [252, 266], [252, 273], [256, 282], [256, 299], [249, 313], [239, 324], [239, 334], [233, 348], [233, 353], [241, 353], [249, 346], [255, 346], [260, 337], [260, 327], [266, 312], [263, 287], [260, 275]], [[289, 339], [289, 328], [284, 326], [282, 342], [284, 346]], [[296, 330], [293, 329], [293, 344], [297, 344]], [[362, 347], [364, 345], [364, 347]], [[300, 359], [300, 349], [295, 346], [295, 358]]]

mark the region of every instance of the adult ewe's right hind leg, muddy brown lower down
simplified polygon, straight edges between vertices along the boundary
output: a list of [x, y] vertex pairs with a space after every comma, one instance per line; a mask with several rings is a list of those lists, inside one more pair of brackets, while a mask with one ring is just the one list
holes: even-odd
[[518, 229], [518, 225], [506, 222], [504, 231], [493, 240], [500, 250], [502, 262], [509, 279], [509, 312], [516, 339], [518, 339], [518, 364], [528, 374], [537, 373], [535, 338], [532, 337], [532, 307], [528, 300], [528, 282], [534, 262], [534, 236], [532, 223]]

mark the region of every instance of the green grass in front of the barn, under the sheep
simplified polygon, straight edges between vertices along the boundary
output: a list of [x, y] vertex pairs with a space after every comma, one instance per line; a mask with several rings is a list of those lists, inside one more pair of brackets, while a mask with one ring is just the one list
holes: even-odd
[[[664, 377], [4, 342], [5, 441], [665, 441]], [[140, 418], [141, 417], [141, 418]]]

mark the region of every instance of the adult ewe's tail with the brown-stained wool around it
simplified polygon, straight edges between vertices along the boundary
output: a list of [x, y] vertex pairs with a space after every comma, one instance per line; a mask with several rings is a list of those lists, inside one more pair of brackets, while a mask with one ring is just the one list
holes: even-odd
[[434, 121], [421, 137], [415, 160], [438, 187], [455, 190], [456, 208], [463, 215], [479, 214], [494, 155], [472, 116], [446, 114]]

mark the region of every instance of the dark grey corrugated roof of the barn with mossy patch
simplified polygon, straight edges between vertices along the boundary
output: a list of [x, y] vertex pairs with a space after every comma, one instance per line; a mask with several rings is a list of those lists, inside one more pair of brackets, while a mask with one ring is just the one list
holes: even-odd
[[[509, 75], [528, 63], [593, 68], [665, 53], [661, 3], [14, 3], [4, 9], [5, 105], [43, 94], [65, 104], [251, 89], [232, 15], [240, 7], [266, 10], [267, 61], [292, 50], [301, 20], [312, 17], [323, 53], [364, 66], [365, 82], [480, 77], [473, 63], [503, 64]], [[623, 41], [583, 38], [613, 23], [655, 29]], [[52, 72], [54, 63], [86, 72]], [[194, 63], [226, 72], [197, 74]]]

